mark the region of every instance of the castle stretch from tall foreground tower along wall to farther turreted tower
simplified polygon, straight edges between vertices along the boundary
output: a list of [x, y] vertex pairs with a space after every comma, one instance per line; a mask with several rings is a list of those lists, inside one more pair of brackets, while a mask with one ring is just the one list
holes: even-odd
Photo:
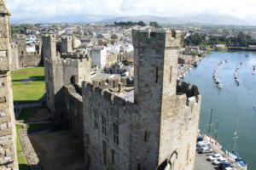
[[55, 35], [44, 37], [49, 111], [84, 139], [85, 169], [194, 169], [201, 95], [177, 82], [181, 33], [132, 35], [134, 79], [93, 81], [89, 54], [73, 52], [70, 41], [59, 53]]

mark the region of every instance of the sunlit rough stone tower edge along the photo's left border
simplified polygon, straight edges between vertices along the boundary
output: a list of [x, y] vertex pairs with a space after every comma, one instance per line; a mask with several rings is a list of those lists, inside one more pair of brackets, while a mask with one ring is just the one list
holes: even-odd
[[0, 1], [0, 169], [18, 169], [15, 113], [10, 77], [10, 25], [5, 0]]

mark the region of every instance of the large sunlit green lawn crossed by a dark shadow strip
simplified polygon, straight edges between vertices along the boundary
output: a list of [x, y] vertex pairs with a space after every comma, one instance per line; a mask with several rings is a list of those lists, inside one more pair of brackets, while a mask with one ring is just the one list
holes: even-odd
[[[15, 101], [36, 101], [45, 93], [44, 67], [34, 67], [12, 71], [13, 94]], [[20, 82], [20, 79], [35, 78], [33, 82]]]

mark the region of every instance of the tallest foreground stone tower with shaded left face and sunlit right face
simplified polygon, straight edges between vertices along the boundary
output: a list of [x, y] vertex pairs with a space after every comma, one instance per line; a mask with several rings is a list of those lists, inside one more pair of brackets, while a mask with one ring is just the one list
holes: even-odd
[[[190, 102], [186, 94], [177, 94], [181, 33], [165, 30], [132, 33], [134, 99], [139, 116], [131, 143], [136, 150], [131, 151], [131, 166], [135, 166], [131, 169], [152, 169], [167, 164], [170, 169], [193, 169], [201, 100], [191, 98]], [[144, 141], [136, 138], [142, 133]]]

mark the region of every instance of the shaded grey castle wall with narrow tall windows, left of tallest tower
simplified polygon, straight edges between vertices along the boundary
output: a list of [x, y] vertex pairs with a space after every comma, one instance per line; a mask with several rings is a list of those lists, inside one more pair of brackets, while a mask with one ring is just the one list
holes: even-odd
[[[137, 105], [93, 84], [83, 84], [85, 169], [131, 169], [131, 115]], [[102, 122], [106, 119], [106, 133]], [[118, 144], [113, 139], [113, 124], [119, 128]], [[106, 142], [106, 162], [102, 142]], [[113, 161], [114, 160], [114, 161]]]

